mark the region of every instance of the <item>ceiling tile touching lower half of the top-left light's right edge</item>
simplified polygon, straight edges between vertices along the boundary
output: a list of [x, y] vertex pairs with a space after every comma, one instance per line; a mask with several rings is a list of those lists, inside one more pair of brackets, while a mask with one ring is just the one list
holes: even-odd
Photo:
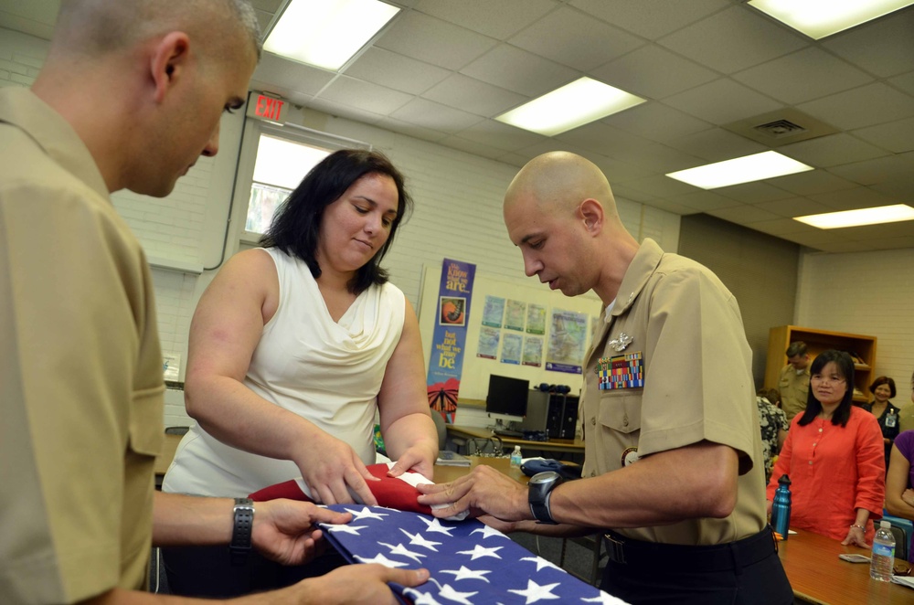
[[451, 74], [448, 69], [377, 47], [368, 48], [345, 69], [347, 76], [409, 94], [422, 94]]

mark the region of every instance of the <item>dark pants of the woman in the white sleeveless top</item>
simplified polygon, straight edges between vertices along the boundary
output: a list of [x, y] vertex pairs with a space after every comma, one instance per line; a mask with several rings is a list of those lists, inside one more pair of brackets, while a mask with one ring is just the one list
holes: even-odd
[[289, 567], [257, 552], [251, 552], [244, 564], [233, 566], [228, 547], [162, 548], [162, 557], [172, 594], [218, 599], [281, 589], [345, 565], [345, 559], [331, 547], [305, 565]]

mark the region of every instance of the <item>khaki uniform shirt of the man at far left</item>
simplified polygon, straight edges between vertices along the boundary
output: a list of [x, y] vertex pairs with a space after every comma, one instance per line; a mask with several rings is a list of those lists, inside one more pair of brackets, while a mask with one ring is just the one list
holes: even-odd
[[146, 584], [162, 353], [139, 242], [89, 150], [0, 91], [0, 595]]

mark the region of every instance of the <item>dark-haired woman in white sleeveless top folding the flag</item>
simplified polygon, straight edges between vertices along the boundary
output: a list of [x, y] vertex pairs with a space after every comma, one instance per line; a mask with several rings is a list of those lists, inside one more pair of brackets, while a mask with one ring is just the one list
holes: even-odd
[[[338, 151], [292, 192], [262, 248], [228, 260], [190, 327], [185, 401], [197, 424], [166, 492], [239, 497], [302, 477], [324, 504], [377, 504], [366, 469], [376, 412], [397, 461], [390, 474], [432, 476], [438, 433], [419, 322], [380, 267], [409, 204], [387, 157]], [[201, 559], [165, 557], [182, 594], [264, 588], [245, 583], [225, 549], [213, 568]]]

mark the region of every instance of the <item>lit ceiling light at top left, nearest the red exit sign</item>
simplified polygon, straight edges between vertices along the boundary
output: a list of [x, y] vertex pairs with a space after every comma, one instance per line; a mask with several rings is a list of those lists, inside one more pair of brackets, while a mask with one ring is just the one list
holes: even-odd
[[398, 12], [377, 0], [292, 0], [263, 48], [335, 71]]

